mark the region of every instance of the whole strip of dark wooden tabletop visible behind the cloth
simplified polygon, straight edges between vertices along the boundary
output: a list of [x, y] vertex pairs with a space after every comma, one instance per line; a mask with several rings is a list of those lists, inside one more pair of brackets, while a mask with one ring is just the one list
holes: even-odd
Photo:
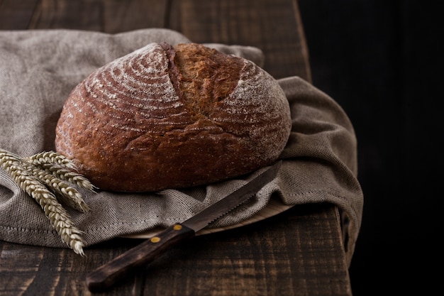
[[0, 5], [1, 30], [70, 28], [121, 33], [171, 28], [196, 43], [255, 46], [265, 53], [264, 68], [273, 77], [297, 75], [311, 81], [297, 1], [4, 0]]

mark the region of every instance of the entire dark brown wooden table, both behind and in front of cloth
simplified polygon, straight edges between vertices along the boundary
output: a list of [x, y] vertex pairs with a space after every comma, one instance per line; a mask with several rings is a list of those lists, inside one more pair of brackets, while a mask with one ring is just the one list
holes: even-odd
[[[275, 78], [311, 81], [296, 0], [0, 0], [0, 30], [71, 28], [120, 33], [171, 28], [197, 43], [252, 45]], [[1, 213], [0, 213], [1, 214]], [[0, 241], [0, 296], [91, 295], [85, 277], [140, 243], [85, 250]], [[293, 207], [248, 226], [197, 236], [98, 295], [352, 295], [338, 209]]]

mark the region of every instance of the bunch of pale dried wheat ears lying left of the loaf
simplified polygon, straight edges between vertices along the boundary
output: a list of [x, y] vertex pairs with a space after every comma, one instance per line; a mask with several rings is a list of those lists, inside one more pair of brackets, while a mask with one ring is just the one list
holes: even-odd
[[70, 215], [57, 200], [59, 197], [62, 202], [80, 212], [89, 211], [82, 194], [69, 182], [90, 191], [94, 191], [95, 187], [85, 177], [72, 171], [72, 161], [54, 151], [21, 158], [0, 148], [0, 166], [23, 191], [40, 204], [62, 241], [75, 253], [84, 256], [82, 231], [74, 225]]

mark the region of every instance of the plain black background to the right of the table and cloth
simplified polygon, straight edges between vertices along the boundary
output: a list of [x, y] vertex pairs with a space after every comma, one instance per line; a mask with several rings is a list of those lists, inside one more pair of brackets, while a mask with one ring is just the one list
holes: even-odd
[[[353, 295], [443, 285], [443, 38], [439, 1], [299, 0], [313, 84], [350, 116], [364, 214]], [[435, 4], [435, 5], [433, 5]]]

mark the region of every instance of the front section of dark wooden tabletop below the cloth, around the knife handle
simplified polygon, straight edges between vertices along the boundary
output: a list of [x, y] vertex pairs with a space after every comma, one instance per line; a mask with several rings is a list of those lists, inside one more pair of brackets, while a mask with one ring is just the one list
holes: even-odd
[[[106, 293], [94, 295], [351, 295], [338, 212], [304, 205], [267, 220], [196, 236]], [[0, 241], [0, 296], [91, 295], [85, 278], [140, 243], [114, 239], [85, 249]]]

